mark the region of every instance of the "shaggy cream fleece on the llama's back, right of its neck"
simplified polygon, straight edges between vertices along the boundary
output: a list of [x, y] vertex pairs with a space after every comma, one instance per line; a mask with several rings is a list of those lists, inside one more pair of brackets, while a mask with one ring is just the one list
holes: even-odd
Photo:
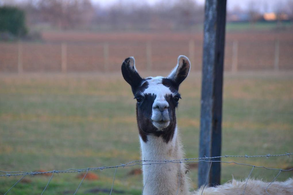
[[[246, 180], [232, 180], [217, 187], [205, 187], [198, 189], [193, 195], [243, 195]], [[244, 195], [268, 195], [265, 191], [270, 182], [250, 179], [247, 182]], [[285, 182], [273, 182], [267, 189], [270, 195], [293, 195], [293, 179]]]

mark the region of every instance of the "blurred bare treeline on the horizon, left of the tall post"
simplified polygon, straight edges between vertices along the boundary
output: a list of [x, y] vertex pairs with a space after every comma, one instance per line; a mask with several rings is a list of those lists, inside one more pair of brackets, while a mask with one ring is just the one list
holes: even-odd
[[[3, 0], [0, 0], [3, 1]], [[4, 0], [25, 10], [30, 29], [193, 30], [203, 22], [195, 0], [118, 0], [107, 7], [91, 0]]]

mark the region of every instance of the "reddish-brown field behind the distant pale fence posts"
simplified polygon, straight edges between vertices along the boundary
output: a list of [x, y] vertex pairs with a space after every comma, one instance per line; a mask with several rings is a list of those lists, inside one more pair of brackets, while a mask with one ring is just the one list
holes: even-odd
[[[80, 33], [43, 32], [45, 43], [23, 43], [23, 69], [27, 72], [60, 72], [61, 43], [67, 44], [69, 72], [105, 71], [103, 46], [109, 44], [107, 70], [119, 72], [122, 61], [134, 56], [140, 69], [147, 70], [146, 42], [151, 42], [151, 70], [168, 70], [177, 56], [189, 55], [189, 41], [194, 42], [192, 71], [201, 70], [201, 33]], [[225, 70], [231, 70], [232, 45], [239, 42], [239, 70], [273, 70], [275, 40], [280, 40], [282, 70], [293, 68], [293, 35], [291, 32], [228, 32], [226, 34]], [[0, 71], [16, 72], [18, 44], [0, 43]]]

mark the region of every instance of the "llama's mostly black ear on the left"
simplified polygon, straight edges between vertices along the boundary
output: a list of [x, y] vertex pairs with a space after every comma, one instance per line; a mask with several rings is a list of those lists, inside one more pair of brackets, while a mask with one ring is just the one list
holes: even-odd
[[129, 57], [124, 60], [121, 66], [121, 71], [125, 81], [130, 84], [132, 93], [135, 94], [137, 88], [142, 82], [142, 77], [137, 73], [134, 57]]

